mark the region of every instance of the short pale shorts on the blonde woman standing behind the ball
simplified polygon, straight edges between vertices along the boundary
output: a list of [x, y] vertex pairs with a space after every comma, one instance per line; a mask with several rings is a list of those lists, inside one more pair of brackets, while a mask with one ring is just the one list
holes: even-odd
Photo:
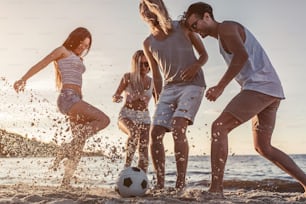
[[127, 118], [137, 124], [151, 124], [151, 118], [149, 111], [133, 110], [126, 107], [122, 107], [119, 113], [119, 120]]

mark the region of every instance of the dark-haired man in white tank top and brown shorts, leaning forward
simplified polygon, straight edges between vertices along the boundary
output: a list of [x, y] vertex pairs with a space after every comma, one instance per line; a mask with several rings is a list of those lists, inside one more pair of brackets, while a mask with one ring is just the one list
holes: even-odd
[[206, 3], [190, 5], [184, 20], [190, 30], [203, 38], [211, 36], [219, 41], [220, 52], [228, 65], [217, 85], [207, 90], [206, 98], [217, 100], [234, 78], [241, 86], [241, 92], [212, 124], [209, 192], [223, 195], [228, 133], [251, 118], [256, 151], [297, 179], [306, 190], [305, 173], [287, 154], [271, 145], [276, 112], [285, 97], [277, 73], [259, 42], [237, 22], [217, 22], [212, 7]]

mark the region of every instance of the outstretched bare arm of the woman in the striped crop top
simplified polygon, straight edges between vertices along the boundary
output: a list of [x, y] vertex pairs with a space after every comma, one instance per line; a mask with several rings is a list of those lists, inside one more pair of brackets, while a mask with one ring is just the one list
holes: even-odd
[[64, 47], [59, 47], [53, 50], [50, 54], [40, 60], [37, 64], [31, 67], [21, 79], [14, 83], [14, 89], [16, 92], [23, 91], [26, 85], [26, 81], [31, 78], [33, 75], [47, 67], [52, 61], [59, 59], [64, 53]]

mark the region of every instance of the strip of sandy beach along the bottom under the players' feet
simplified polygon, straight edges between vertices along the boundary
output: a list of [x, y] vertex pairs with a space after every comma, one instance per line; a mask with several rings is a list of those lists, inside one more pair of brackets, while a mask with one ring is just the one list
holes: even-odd
[[209, 195], [199, 188], [183, 194], [158, 193], [144, 197], [121, 198], [107, 188], [72, 188], [63, 190], [50, 186], [1, 185], [0, 203], [306, 203], [301, 193], [280, 193], [260, 190], [226, 191], [224, 198]]

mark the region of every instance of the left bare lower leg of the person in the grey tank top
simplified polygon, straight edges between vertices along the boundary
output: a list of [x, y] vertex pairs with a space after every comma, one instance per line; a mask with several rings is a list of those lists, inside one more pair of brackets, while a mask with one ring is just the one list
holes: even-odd
[[163, 138], [166, 129], [162, 126], [154, 125], [150, 130], [151, 156], [157, 176], [157, 189], [165, 187], [165, 148]]

